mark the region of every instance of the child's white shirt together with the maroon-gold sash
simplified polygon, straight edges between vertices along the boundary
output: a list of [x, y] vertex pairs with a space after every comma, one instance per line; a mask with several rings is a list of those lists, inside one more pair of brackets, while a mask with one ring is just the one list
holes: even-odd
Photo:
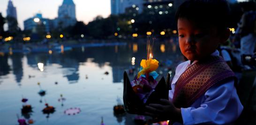
[[181, 108], [184, 125], [232, 124], [243, 109], [235, 84], [233, 71], [216, 50], [205, 60], [177, 66], [169, 100]]

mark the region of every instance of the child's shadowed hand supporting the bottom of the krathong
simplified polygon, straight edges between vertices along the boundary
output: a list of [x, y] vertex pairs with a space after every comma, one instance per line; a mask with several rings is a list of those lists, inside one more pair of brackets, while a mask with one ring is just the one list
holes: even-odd
[[167, 99], [160, 99], [160, 102], [161, 104], [149, 104], [149, 106], [146, 106], [145, 115], [153, 118], [150, 120], [152, 123], [166, 120], [175, 120], [182, 123], [181, 109], [176, 108]]

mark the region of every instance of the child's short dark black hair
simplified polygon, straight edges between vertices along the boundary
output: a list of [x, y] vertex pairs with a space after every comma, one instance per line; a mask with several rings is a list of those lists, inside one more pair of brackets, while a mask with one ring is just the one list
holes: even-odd
[[223, 31], [228, 27], [229, 13], [226, 0], [187, 0], [178, 8], [175, 18], [195, 22], [197, 28], [213, 26]]

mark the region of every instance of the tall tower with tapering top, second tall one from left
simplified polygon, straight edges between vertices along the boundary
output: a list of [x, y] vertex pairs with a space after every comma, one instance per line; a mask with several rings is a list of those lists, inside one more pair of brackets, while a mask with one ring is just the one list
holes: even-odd
[[55, 20], [55, 27], [68, 27], [76, 23], [75, 3], [73, 0], [63, 0], [58, 10], [58, 18]]

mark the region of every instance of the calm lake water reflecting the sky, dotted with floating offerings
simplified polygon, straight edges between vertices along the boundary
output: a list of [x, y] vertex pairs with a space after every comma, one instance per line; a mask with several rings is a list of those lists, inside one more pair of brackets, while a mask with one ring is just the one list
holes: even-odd
[[[179, 46], [173, 40], [155, 43], [153, 53], [160, 62], [157, 71], [164, 76], [182, 61]], [[33, 119], [34, 125], [100, 125], [102, 117], [105, 125], [134, 125], [135, 115], [113, 114], [117, 100], [122, 102], [123, 73], [133, 66], [133, 57], [137, 73], [141, 59], [146, 58], [145, 43], [76, 45], [61, 52], [2, 52], [0, 125], [18, 125], [17, 116]], [[39, 69], [38, 63], [43, 63], [43, 68]], [[45, 96], [38, 94], [40, 89], [46, 90]], [[58, 101], [61, 94], [66, 99], [63, 102]], [[32, 106], [30, 114], [22, 114], [22, 98]], [[55, 107], [55, 112], [43, 114], [45, 103]], [[64, 114], [69, 108], [80, 108], [81, 112]]]

